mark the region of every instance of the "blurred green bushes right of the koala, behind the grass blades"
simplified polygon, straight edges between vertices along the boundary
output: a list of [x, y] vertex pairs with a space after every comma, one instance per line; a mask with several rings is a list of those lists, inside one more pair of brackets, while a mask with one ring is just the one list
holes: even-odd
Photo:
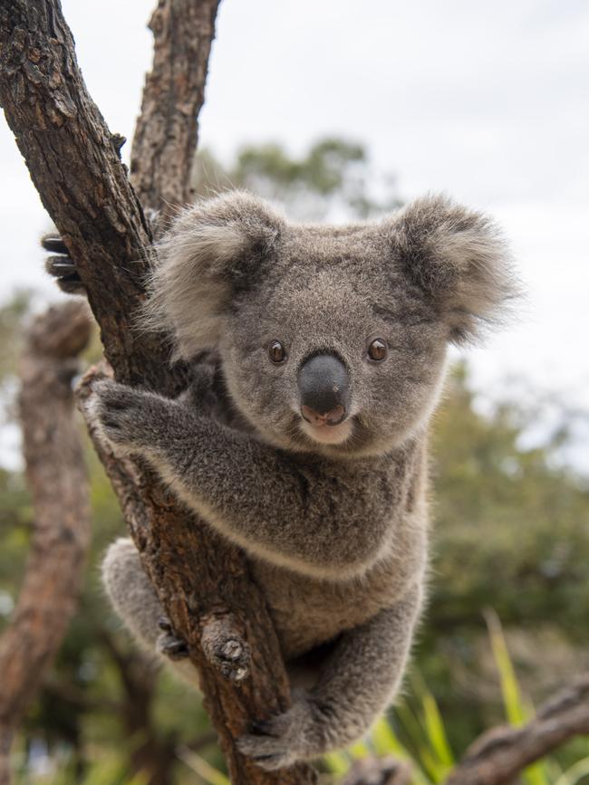
[[526, 692], [542, 697], [589, 668], [589, 483], [555, 460], [559, 435], [522, 446], [526, 407], [506, 399], [480, 414], [458, 366], [435, 418], [433, 570], [419, 662], [444, 715], [455, 714], [457, 749], [497, 721], [481, 644], [486, 608], [512, 631]]

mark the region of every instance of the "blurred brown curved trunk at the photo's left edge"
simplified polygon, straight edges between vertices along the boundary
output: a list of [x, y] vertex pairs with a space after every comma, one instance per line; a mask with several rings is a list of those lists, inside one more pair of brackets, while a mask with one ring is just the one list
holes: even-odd
[[10, 781], [14, 731], [60, 646], [82, 585], [90, 541], [88, 483], [72, 376], [90, 336], [85, 303], [34, 321], [22, 359], [24, 458], [34, 531], [10, 627], [0, 640], [0, 783]]

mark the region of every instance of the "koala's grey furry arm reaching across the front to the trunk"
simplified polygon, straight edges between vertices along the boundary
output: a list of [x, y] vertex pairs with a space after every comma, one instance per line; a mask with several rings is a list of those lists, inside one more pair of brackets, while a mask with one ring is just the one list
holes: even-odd
[[343, 578], [364, 572], [388, 543], [376, 487], [384, 476], [354, 486], [320, 469], [302, 474], [287, 455], [194, 408], [113, 382], [94, 391], [115, 448], [147, 458], [188, 506], [246, 550]]

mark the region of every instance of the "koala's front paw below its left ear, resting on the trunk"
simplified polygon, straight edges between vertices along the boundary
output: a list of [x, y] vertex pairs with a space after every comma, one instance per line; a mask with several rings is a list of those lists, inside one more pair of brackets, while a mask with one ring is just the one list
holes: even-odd
[[92, 387], [88, 411], [115, 453], [148, 455], [165, 436], [173, 406], [153, 393], [105, 380]]

